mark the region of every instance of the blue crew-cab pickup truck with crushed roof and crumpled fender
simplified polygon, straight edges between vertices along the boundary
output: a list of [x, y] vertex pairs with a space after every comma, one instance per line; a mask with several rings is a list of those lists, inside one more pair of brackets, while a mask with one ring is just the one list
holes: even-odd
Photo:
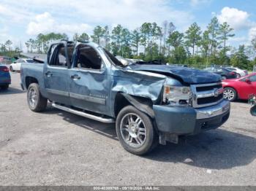
[[[53, 107], [99, 122], [116, 122], [118, 139], [135, 155], [178, 136], [218, 128], [227, 121], [221, 77], [164, 65], [124, 66], [91, 42], [61, 40], [41, 63], [21, 66], [29, 108]], [[37, 59], [37, 58], [34, 58]], [[37, 59], [39, 61], [40, 59]]]

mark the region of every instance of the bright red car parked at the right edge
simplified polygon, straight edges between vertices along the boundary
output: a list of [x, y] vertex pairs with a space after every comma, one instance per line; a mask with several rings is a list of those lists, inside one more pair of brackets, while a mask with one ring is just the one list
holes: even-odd
[[238, 99], [248, 100], [249, 95], [256, 95], [256, 73], [238, 79], [225, 79], [222, 81], [224, 98], [229, 101]]

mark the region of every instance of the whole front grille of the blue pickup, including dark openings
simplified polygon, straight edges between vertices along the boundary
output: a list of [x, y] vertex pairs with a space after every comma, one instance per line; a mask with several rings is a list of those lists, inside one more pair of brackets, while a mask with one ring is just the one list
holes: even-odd
[[192, 106], [195, 108], [213, 106], [223, 100], [222, 83], [191, 85]]

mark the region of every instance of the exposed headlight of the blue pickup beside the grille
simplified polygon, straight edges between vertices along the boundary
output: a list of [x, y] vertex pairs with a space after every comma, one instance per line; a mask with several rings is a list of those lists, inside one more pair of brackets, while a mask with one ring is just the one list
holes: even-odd
[[173, 106], [187, 106], [191, 104], [191, 90], [187, 86], [164, 85], [162, 101]]

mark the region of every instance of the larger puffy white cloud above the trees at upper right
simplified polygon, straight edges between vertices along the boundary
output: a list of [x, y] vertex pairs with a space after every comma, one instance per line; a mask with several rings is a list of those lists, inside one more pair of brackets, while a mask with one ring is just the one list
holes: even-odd
[[236, 8], [224, 7], [217, 17], [220, 23], [227, 22], [231, 28], [236, 30], [249, 28], [252, 24], [249, 21], [249, 13]]

